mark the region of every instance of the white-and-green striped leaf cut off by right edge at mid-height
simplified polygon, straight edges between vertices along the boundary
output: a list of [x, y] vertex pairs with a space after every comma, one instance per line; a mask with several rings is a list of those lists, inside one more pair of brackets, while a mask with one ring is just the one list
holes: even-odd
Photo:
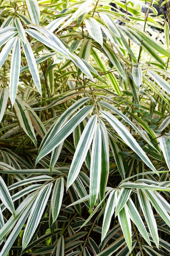
[[165, 158], [168, 169], [170, 170], [170, 139], [162, 136], [159, 139], [159, 145]]

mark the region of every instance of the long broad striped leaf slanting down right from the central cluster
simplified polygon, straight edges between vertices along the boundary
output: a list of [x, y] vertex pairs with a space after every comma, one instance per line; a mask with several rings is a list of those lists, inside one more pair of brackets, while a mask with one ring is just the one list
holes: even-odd
[[[111, 115], [109, 112], [106, 111], [100, 111], [104, 118], [113, 126], [115, 131], [121, 136], [121, 138], [125, 141], [125, 143], [137, 154], [139, 157], [144, 161], [144, 163], [155, 173], [157, 173], [157, 170], [153, 166], [153, 164], [150, 162], [150, 159], [144, 152], [144, 150], [139, 146], [137, 141], [132, 137], [130, 132], [126, 129], [126, 127], [121, 124], [121, 122]], [[159, 175], [157, 173], [157, 175]]]

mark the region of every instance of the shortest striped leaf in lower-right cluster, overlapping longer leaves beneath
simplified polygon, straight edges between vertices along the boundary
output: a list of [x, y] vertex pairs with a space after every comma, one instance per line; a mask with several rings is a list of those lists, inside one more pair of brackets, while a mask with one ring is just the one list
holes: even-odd
[[118, 197], [117, 197], [117, 205], [115, 208], [115, 216], [117, 216], [118, 213], [121, 211], [121, 209], [124, 208], [126, 202], [130, 197], [131, 192], [132, 192], [131, 189], [121, 189], [119, 191]]

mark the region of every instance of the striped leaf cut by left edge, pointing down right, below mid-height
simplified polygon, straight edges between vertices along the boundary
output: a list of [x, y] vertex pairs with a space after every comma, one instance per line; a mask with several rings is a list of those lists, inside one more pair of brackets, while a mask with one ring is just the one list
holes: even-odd
[[5, 184], [1, 176], [0, 176], [0, 199], [3, 202], [3, 204], [7, 207], [7, 209], [15, 217], [15, 207], [14, 207], [11, 195], [9, 193], [7, 185]]

